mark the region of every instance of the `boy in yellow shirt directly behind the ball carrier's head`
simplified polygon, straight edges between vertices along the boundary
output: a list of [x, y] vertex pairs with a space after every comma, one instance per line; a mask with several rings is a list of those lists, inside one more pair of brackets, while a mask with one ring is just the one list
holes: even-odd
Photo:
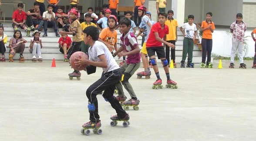
[[[84, 31], [85, 28], [88, 26], [95, 26], [97, 27], [93, 22], [91, 22], [91, 14], [86, 13], [84, 15], [85, 21], [81, 23], [82, 31]], [[84, 43], [84, 34], [82, 33], [82, 44], [81, 44], [81, 51], [83, 51], [85, 54], [88, 54], [88, 49], [90, 48], [90, 45], [86, 45]]]

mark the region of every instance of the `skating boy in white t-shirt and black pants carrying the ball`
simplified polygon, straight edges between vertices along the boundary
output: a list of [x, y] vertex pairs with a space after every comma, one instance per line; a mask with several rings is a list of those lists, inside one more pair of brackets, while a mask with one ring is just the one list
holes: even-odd
[[[112, 116], [111, 120], [129, 120], [129, 115], [122, 109], [122, 106], [118, 100], [113, 96], [116, 84], [119, 83], [121, 79], [121, 70], [113, 58], [108, 48], [98, 41], [99, 32], [94, 26], [88, 26], [83, 30], [84, 32], [84, 43], [90, 45], [88, 50], [89, 59], [76, 58], [77, 65], [88, 64], [86, 68], [87, 72], [90, 72], [90, 67], [102, 67], [103, 73], [101, 78], [94, 82], [86, 90], [86, 96], [88, 97], [88, 109], [90, 113], [90, 121], [82, 125], [83, 128], [100, 128], [101, 120], [98, 114], [98, 100], [97, 95], [104, 90], [103, 97], [106, 99], [111, 106], [117, 112], [117, 115]], [[95, 68], [96, 69], [96, 68]], [[95, 70], [96, 71], [96, 70]], [[95, 72], [94, 71], [94, 72]], [[89, 73], [88, 73], [89, 74]]]

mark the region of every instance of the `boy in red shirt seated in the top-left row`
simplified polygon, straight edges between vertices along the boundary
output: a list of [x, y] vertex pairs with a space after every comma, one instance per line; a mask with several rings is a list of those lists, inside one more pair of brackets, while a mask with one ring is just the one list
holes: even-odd
[[13, 29], [14, 30], [18, 30], [19, 27], [24, 29], [25, 32], [27, 32], [27, 26], [25, 24], [27, 16], [26, 16], [26, 12], [23, 11], [23, 3], [18, 3], [18, 10], [15, 10], [13, 12]]

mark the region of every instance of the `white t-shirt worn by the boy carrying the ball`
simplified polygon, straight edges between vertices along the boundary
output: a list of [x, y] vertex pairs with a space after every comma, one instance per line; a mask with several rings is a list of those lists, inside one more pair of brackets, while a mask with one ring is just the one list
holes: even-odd
[[100, 58], [98, 58], [99, 55], [105, 54], [108, 67], [102, 68], [104, 73], [120, 68], [115, 61], [115, 58], [113, 58], [111, 52], [108, 50], [107, 46], [104, 45], [103, 42], [95, 41], [94, 45], [88, 49], [88, 54], [89, 60], [96, 62], [101, 61]]

